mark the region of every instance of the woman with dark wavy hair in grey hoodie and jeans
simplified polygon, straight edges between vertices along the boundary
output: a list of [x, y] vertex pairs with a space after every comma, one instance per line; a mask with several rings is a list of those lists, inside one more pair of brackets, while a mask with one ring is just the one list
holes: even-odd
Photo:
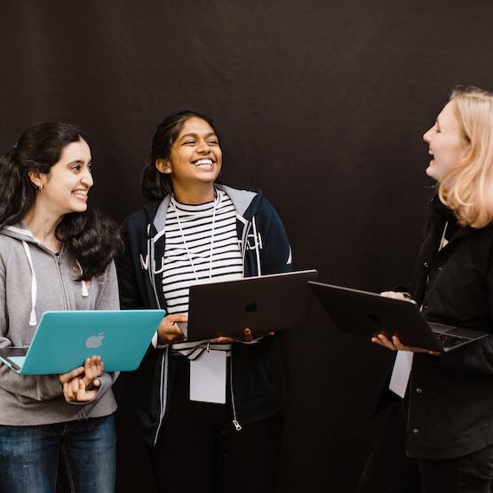
[[[0, 156], [0, 346], [28, 346], [46, 310], [118, 309], [115, 224], [87, 209], [89, 139], [39, 123]], [[67, 328], [70, 330], [70, 327]], [[115, 488], [116, 409], [98, 356], [63, 375], [22, 376], [0, 364], [0, 490]]]

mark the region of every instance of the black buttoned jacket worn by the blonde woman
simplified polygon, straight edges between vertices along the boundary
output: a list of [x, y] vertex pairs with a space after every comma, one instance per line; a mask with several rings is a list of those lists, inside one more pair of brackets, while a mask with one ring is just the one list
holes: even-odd
[[[459, 227], [434, 197], [411, 294], [431, 322], [493, 334], [493, 226]], [[454, 228], [439, 250], [446, 222]], [[460, 457], [493, 443], [493, 338], [415, 354], [408, 389], [410, 457]]]

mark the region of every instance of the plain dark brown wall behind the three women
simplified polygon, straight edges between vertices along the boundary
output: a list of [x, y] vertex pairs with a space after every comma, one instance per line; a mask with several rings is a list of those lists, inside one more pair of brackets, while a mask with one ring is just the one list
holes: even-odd
[[[410, 278], [419, 245], [423, 132], [452, 86], [493, 89], [492, 20], [489, 0], [4, 0], [0, 148], [38, 121], [82, 125], [91, 203], [121, 220], [144, 203], [157, 123], [194, 108], [219, 128], [227, 183], [274, 203], [297, 268], [383, 290]], [[354, 491], [391, 354], [342, 335], [319, 306], [283, 346], [278, 490]], [[152, 491], [125, 412], [119, 430], [118, 490]]]

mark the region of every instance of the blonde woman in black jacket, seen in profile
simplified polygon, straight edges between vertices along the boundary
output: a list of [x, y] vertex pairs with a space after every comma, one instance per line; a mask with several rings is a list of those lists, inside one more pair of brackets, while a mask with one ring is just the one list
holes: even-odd
[[[382, 294], [414, 299], [430, 322], [493, 334], [493, 94], [455, 89], [424, 139], [438, 191], [410, 293]], [[441, 355], [383, 334], [371, 340], [413, 360], [359, 491], [489, 493], [493, 339]]]

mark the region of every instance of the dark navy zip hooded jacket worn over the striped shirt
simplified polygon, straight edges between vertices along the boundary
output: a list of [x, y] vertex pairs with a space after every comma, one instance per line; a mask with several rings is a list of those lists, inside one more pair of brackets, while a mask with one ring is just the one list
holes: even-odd
[[[236, 210], [236, 229], [242, 250], [244, 275], [278, 274], [291, 270], [290, 244], [274, 208], [259, 192], [221, 187]], [[165, 236], [157, 235], [154, 220], [161, 206], [167, 210], [170, 197], [147, 203], [125, 220], [125, 251], [116, 259], [122, 308], [166, 308], [161, 265]], [[160, 225], [163, 226], [163, 225]], [[163, 227], [160, 227], [162, 230]], [[231, 402], [235, 425], [248, 425], [274, 415], [285, 402], [284, 378], [276, 337], [257, 344], [234, 343], [231, 365]], [[155, 445], [169, 414], [173, 358], [169, 347], [150, 346], [137, 372], [137, 413], [146, 441]]]

